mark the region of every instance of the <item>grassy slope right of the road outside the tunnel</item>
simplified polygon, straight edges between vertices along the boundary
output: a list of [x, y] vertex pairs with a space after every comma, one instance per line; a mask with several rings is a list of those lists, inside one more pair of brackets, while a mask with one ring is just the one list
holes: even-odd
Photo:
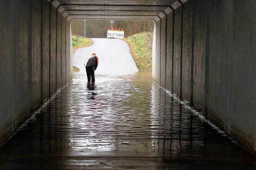
[[140, 71], [152, 71], [153, 33], [143, 32], [124, 39], [130, 46], [132, 57]]

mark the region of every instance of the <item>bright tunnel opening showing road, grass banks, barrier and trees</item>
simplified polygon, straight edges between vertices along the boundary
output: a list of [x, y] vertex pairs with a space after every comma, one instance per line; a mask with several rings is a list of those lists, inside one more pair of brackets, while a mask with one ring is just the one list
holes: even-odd
[[152, 72], [153, 21], [72, 20], [71, 30], [75, 72], [85, 72], [92, 53], [100, 61], [95, 74]]

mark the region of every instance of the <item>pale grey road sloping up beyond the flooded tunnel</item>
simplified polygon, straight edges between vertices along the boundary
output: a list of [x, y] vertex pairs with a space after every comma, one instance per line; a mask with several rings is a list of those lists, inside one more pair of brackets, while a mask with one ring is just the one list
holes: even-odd
[[138, 72], [132, 59], [128, 43], [122, 39], [93, 38], [94, 44], [90, 47], [80, 48], [74, 52], [73, 66], [85, 73], [84, 64], [96, 53], [99, 65], [96, 75], [129, 75]]

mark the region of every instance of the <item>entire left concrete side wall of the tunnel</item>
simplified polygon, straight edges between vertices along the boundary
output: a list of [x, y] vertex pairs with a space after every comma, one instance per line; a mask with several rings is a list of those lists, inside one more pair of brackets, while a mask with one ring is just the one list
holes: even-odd
[[[60, 72], [60, 63], [70, 63], [70, 37], [65, 34], [70, 23], [62, 17], [64, 24], [58, 25], [61, 14], [48, 0], [0, 0], [0, 15], [1, 144], [69, 82], [72, 66]], [[62, 29], [64, 35], [58, 34]]]

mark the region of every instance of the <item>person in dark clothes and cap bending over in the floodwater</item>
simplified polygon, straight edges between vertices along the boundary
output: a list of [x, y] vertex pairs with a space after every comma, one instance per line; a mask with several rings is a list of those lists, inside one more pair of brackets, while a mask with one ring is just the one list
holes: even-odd
[[95, 53], [92, 53], [92, 57], [87, 61], [85, 66], [88, 82], [91, 82], [91, 79], [92, 79], [92, 83], [95, 82], [94, 71], [97, 69], [98, 64], [99, 64], [99, 58], [96, 56]]

